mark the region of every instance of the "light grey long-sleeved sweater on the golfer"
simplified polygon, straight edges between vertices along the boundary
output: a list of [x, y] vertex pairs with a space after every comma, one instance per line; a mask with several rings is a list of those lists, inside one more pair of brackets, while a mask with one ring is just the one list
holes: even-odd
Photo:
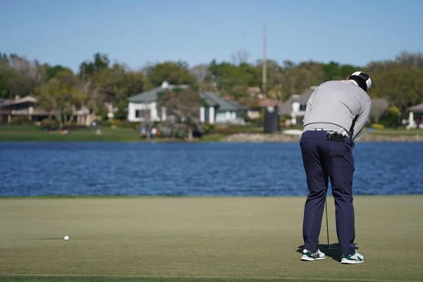
[[307, 101], [303, 131], [341, 130], [355, 142], [369, 118], [372, 100], [355, 81], [322, 83]]

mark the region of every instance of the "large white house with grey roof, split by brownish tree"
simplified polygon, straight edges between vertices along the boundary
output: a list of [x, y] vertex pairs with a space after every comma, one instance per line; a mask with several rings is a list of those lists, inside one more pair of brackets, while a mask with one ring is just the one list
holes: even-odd
[[[136, 94], [128, 98], [128, 121], [166, 121], [166, 109], [157, 108], [158, 94], [164, 90], [174, 88], [188, 88], [188, 85], [169, 85], [163, 82], [160, 87]], [[245, 106], [228, 99], [223, 99], [215, 92], [200, 91], [198, 93], [204, 104], [200, 109], [200, 121], [202, 123], [243, 123], [240, 117], [242, 111], [247, 111]]]

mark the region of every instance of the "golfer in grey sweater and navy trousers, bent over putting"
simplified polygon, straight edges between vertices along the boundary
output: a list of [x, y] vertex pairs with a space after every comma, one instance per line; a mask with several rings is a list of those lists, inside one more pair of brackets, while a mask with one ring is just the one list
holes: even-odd
[[369, 117], [372, 100], [367, 90], [371, 86], [369, 75], [357, 71], [346, 80], [324, 82], [307, 101], [300, 140], [309, 190], [302, 223], [302, 260], [326, 258], [317, 244], [330, 179], [341, 263], [364, 262], [354, 245], [353, 148]]

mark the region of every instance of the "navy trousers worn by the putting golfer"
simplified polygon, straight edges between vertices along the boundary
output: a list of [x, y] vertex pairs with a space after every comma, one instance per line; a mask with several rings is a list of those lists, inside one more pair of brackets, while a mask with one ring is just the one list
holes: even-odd
[[330, 179], [341, 255], [350, 255], [355, 250], [353, 144], [348, 137], [334, 142], [326, 140], [326, 131], [309, 130], [302, 134], [300, 147], [309, 190], [302, 223], [305, 249], [317, 250]]

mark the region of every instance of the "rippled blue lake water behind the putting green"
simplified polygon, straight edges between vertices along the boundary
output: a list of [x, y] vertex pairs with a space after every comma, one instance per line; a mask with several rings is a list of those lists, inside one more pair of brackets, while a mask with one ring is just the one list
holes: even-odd
[[[357, 143], [354, 195], [423, 194], [423, 143]], [[0, 142], [0, 196], [307, 195], [298, 143]]]

